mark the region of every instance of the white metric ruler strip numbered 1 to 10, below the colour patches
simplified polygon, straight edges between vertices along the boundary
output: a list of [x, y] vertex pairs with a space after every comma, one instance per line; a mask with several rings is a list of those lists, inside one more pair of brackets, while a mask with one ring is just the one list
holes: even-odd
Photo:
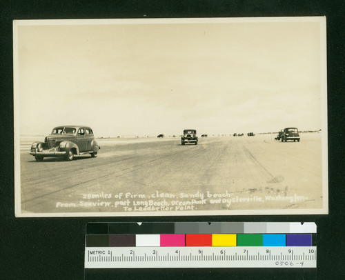
[[316, 267], [316, 247], [86, 248], [86, 268]]

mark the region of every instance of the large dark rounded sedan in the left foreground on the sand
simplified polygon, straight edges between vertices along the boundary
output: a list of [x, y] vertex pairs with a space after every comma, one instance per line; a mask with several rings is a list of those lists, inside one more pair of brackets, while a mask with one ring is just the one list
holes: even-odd
[[44, 142], [32, 143], [30, 154], [36, 161], [43, 161], [45, 157], [63, 157], [72, 161], [76, 154], [97, 157], [99, 149], [90, 127], [57, 126]]

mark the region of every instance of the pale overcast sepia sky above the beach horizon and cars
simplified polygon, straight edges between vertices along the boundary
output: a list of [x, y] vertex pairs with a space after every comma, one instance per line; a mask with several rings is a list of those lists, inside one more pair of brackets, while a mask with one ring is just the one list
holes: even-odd
[[18, 24], [20, 132], [64, 124], [97, 136], [322, 128], [320, 22], [146, 22]]

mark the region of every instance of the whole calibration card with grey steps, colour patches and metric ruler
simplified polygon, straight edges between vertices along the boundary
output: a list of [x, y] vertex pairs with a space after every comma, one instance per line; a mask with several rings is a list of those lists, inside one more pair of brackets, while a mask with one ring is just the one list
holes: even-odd
[[315, 223], [90, 223], [85, 268], [316, 268]]

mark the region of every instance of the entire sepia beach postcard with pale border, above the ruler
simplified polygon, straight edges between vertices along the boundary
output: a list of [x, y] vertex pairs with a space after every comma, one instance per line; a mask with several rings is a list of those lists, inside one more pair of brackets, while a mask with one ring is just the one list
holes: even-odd
[[326, 18], [13, 22], [16, 217], [327, 214]]

